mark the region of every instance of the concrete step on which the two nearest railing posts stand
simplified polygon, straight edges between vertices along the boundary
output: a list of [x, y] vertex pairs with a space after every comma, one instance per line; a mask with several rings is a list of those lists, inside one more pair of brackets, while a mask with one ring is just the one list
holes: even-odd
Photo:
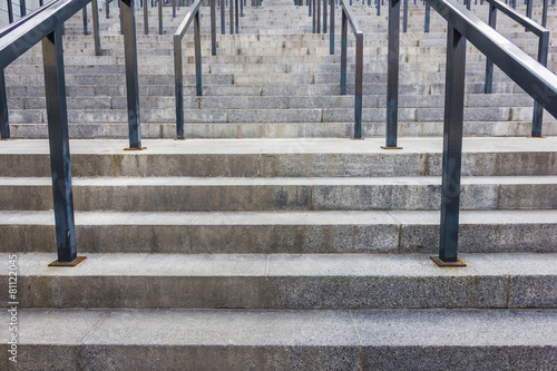
[[71, 270], [47, 266], [55, 255], [18, 254], [20, 307], [557, 307], [555, 253], [461, 254], [449, 270], [424, 254], [90, 253]]

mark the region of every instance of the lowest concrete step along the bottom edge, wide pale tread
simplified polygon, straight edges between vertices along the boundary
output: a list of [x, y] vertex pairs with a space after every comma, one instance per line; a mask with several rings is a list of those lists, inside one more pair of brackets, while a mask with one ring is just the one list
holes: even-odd
[[[18, 315], [18, 370], [33, 371], [76, 364], [107, 371], [185, 364], [202, 371], [551, 370], [557, 349], [555, 310], [43, 309]], [[9, 323], [8, 311], [1, 320]], [[440, 331], [439, 323], [459, 331]], [[0, 328], [3, 353], [9, 336]], [[8, 357], [0, 367], [14, 369]]]

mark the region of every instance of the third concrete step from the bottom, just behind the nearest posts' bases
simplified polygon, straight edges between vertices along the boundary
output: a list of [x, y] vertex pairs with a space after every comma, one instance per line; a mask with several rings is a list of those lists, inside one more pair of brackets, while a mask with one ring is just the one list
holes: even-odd
[[[0, 212], [10, 253], [55, 253], [52, 212]], [[76, 214], [80, 253], [430, 253], [439, 212], [226, 212]], [[463, 211], [462, 253], [557, 253], [557, 211]]]

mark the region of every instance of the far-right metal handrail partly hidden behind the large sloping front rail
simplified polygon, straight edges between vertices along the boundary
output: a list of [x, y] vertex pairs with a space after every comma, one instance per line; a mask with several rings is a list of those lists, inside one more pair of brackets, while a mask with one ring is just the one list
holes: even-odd
[[[549, 31], [541, 27], [540, 25], [532, 21], [530, 18], [519, 13], [514, 10], [506, 3], [499, 0], [486, 0], [489, 3], [489, 26], [496, 29], [496, 20], [497, 20], [497, 10], [500, 10], [509, 18], [515, 20], [517, 23], [524, 26], [527, 31], [531, 31], [539, 38], [538, 42], [538, 62], [543, 66], [547, 66], [547, 52], [549, 49]], [[531, 1], [529, 1], [531, 3]], [[547, 0], [544, 0], [545, 9], [547, 10]], [[530, 7], [531, 8], [531, 7]], [[530, 9], [531, 16], [531, 9]], [[486, 85], [483, 91], [486, 94], [492, 92], [494, 86], [494, 62], [488, 58], [486, 61]], [[540, 137], [541, 136], [541, 125], [544, 117], [544, 108], [537, 102], [534, 101], [534, 118], [531, 124], [531, 136]]]

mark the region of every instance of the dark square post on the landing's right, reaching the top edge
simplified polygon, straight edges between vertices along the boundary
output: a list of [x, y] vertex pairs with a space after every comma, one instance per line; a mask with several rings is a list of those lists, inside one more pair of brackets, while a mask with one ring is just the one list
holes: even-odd
[[389, 0], [389, 35], [387, 49], [387, 133], [384, 149], [397, 146], [399, 126], [399, 45], [400, 0]]

